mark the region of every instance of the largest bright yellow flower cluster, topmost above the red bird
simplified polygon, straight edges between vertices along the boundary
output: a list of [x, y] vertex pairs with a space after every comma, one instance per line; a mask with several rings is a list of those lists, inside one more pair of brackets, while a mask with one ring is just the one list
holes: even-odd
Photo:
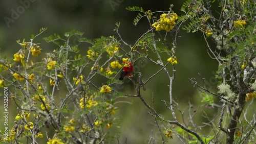
[[156, 28], [156, 31], [165, 30], [169, 32], [170, 30], [173, 30], [174, 25], [176, 24], [175, 20], [178, 19], [178, 15], [176, 13], [163, 13], [160, 16], [160, 19], [152, 24], [154, 28]]

